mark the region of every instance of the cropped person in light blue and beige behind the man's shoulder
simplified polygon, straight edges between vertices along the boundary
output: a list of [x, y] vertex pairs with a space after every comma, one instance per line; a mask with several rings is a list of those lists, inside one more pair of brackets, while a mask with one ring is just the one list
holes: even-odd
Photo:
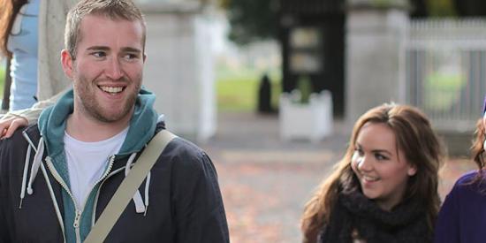
[[11, 72], [7, 73], [12, 79], [11, 113], [6, 118], [19, 115], [28, 120], [23, 109], [36, 103], [36, 98], [43, 101], [71, 85], [59, 63], [59, 53], [65, 16], [76, 2], [0, 0], [0, 52], [11, 59]]

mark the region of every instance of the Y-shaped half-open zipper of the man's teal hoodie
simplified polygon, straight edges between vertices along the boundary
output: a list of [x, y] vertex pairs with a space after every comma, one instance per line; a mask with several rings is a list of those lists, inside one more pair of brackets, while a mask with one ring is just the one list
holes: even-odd
[[[105, 178], [110, 173], [111, 168], [113, 167], [113, 162], [115, 161], [115, 156], [110, 156], [109, 159], [110, 159], [110, 163], [108, 164], [108, 169], [103, 173], [102, 178], [100, 178], [96, 181], [96, 183], [93, 185], [93, 188], [95, 188], [95, 186], [98, 183], [100, 183], [100, 181], [102, 181], [103, 178]], [[74, 200], [74, 197], [72, 196], [71, 191], [69, 190], [69, 186], [67, 186], [65, 184], [64, 179], [61, 178], [61, 176], [59, 175], [57, 170], [54, 168], [54, 164], [52, 163], [52, 160], [49, 156], [46, 157], [46, 162], [47, 162], [47, 167], [49, 168], [49, 171], [52, 174], [52, 176], [57, 180], [57, 183], [59, 183], [59, 185], [61, 185], [65, 189], [67, 194], [69, 194], [69, 196], [71, 197], [72, 203], [74, 204], [74, 210], [75, 210], [74, 223], [72, 224], [72, 226], [74, 227], [74, 231], [76, 232], [76, 242], [81, 243], [80, 220], [81, 220], [81, 215], [83, 214], [84, 207], [86, 205], [87, 198], [85, 199], [85, 201], [82, 205], [83, 209], [82, 210], [78, 209], [78, 205], [77, 205], [76, 201]], [[93, 188], [91, 188], [91, 191], [89, 192], [89, 194], [87, 194], [88, 197], [93, 192]], [[95, 211], [95, 209], [93, 211]]]

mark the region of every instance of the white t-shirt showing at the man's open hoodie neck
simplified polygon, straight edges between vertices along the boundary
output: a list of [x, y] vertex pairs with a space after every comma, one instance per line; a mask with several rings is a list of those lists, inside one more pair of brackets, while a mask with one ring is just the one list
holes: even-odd
[[71, 193], [80, 208], [84, 207], [87, 194], [91, 192], [96, 181], [125, 141], [128, 127], [108, 140], [85, 142], [72, 138], [65, 132], [65, 155]]

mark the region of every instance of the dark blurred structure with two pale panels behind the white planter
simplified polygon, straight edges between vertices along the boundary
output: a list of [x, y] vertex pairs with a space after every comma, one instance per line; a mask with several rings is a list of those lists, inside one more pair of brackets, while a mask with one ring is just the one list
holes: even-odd
[[345, 4], [342, 0], [280, 0], [283, 91], [302, 79], [315, 93], [330, 90], [334, 114], [345, 109]]

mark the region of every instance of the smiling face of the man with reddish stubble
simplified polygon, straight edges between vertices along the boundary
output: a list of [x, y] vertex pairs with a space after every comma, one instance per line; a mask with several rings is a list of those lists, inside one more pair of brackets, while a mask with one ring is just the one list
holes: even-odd
[[97, 15], [81, 21], [75, 59], [67, 50], [62, 54], [75, 113], [103, 123], [131, 118], [145, 60], [142, 35], [139, 21]]

